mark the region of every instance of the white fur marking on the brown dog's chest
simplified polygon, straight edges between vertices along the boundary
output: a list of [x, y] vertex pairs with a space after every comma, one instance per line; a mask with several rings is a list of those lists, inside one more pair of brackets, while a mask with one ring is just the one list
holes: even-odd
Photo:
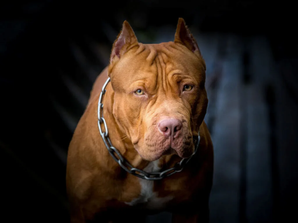
[[[146, 172], [158, 172], [160, 170], [159, 161], [152, 161], [144, 168]], [[158, 197], [158, 192], [153, 192], [154, 180], [145, 180], [139, 178], [141, 185], [141, 194], [139, 197], [133, 199], [131, 202], [125, 202], [127, 205], [137, 205], [140, 203], [146, 203], [147, 208], [159, 209], [163, 208], [164, 205], [173, 199], [172, 196]]]

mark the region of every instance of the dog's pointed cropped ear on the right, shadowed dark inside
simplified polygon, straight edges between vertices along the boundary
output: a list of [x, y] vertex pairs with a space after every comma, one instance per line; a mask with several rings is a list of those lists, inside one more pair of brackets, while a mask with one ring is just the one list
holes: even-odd
[[189, 29], [185, 25], [183, 18], [178, 19], [174, 42], [182, 43], [193, 53], [198, 53], [199, 55], [201, 55], [198, 43], [197, 41], [195, 41], [193, 34], [190, 33]]

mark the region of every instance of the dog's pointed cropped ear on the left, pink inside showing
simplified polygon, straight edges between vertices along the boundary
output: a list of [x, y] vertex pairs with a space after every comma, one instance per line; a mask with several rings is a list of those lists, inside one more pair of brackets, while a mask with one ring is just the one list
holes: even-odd
[[119, 60], [120, 57], [123, 56], [123, 54], [125, 54], [125, 52], [128, 51], [128, 49], [135, 44], [138, 44], [136, 35], [134, 34], [134, 31], [132, 30], [129, 23], [125, 20], [123, 22], [121, 32], [118, 34], [117, 39], [113, 44], [110, 64], [113, 61]]

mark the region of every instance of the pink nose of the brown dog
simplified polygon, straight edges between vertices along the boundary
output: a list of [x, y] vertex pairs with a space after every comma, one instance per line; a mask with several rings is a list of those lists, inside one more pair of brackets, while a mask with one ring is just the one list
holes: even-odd
[[177, 138], [181, 133], [182, 122], [177, 119], [164, 119], [158, 123], [158, 128], [164, 136]]

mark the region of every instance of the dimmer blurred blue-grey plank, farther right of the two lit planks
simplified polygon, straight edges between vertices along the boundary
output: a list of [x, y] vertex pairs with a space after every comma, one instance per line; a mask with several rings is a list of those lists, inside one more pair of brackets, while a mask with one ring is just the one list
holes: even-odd
[[266, 39], [261, 37], [251, 39], [248, 50], [252, 82], [243, 87], [247, 117], [246, 218], [247, 222], [272, 222], [270, 126], [264, 95], [272, 57]]

